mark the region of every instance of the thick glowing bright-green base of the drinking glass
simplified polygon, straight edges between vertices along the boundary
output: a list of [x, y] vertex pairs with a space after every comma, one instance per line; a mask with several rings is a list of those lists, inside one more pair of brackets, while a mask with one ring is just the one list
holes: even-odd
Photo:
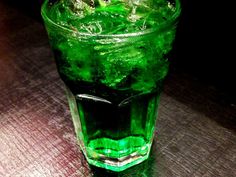
[[[81, 141], [79, 141], [81, 142]], [[126, 142], [133, 142], [129, 144], [129, 148], [122, 148], [121, 144]], [[140, 137], [126, 137], [121, 140], [111, 140], [108, 138], [100, 138], [93, 140], [89, 143], [90, 147], [85, 150], [83, 145], [81, 149], [89, 164], [96, 167], [105, 168], [111, 171], [120, 172], [136, 164], [139, 164], [149, 157], [151, 144], [145, 144], [143, 146], [135, 146], [137, 143], [143, 142]], [[99, 148], [99, 145], [107, 143], [106, 148]], [[112, 146], [114, 144], [120, 144], [121, 146]], [[93, 148], [93, 147], [96, 147]], [[114, 147], [120, 147], [120, 149], [114, 149]]]

